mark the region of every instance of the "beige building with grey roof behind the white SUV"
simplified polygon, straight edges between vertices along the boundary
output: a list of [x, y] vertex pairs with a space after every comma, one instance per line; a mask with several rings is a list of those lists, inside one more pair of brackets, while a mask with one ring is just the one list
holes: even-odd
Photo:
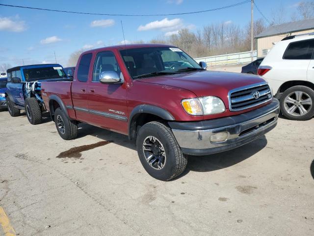
[[311, 32], [314, 32], [314, 18], [270, 26], [256, 36], [257, 57], [265, 57], [276, 42], [289, 35]]

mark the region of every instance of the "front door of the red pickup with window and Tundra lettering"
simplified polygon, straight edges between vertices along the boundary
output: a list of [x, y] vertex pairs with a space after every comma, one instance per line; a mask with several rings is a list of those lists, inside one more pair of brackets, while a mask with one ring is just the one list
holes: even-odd
[[127, 133], [127, 86], [126, 84], [102, 84], [100, 74], [104, 71], [121, 73], [115, 55], [111, 51], [100, 52], [96, 55], [93, 65], [92, 78], [87, 85], [89, 123]]

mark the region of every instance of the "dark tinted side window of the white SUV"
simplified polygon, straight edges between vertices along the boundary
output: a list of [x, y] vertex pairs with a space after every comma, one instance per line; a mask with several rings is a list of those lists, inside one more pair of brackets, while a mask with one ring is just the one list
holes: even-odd
[[312, 59], [314, 40], [304, 40], [290, 43], [283, 59], [307, 60]]

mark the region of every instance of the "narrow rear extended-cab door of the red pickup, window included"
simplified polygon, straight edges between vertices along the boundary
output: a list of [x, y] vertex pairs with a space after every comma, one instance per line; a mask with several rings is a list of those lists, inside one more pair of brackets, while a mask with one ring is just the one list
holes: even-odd
[[77, 76], [71, 87], [73, 108], [76, 112], [77, 119], [80, 121], [87, 121], [88, 119], [87, 81], [88, 75], [91, 75], [91, 72], [89, 72], [91, 59], [92, 53], [87, 53], [81, 56], [78, 70], [76, 72]]

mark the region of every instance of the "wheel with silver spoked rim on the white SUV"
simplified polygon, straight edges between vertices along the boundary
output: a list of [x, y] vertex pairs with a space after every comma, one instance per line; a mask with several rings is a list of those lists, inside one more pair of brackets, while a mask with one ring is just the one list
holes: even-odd
[[293, 86], [282, 94], [280, 111], [288, 119], [307, 120], [314, 116], [314, 90]]

